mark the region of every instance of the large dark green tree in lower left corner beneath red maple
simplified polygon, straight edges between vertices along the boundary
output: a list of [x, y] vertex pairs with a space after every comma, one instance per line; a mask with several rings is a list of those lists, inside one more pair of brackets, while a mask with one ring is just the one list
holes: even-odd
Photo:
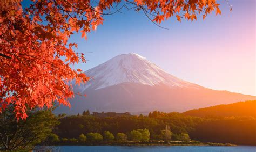
[[48, 137], [59, 124], [51, 110], [32, 109], [25, 121], [16, 119], [14, 107], [0, 114], [0, 150], [31, 150]]

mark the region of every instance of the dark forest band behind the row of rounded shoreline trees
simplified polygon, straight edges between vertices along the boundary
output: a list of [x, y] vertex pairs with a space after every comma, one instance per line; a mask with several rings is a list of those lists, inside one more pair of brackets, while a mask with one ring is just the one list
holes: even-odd
[[[244, 102], [244, 105], [255, 102]], [[238, 104], [241, 106], [241, 103]], [[232, 109], [233, 104], [230, 107]], [[255, 107], [252, 110], [255, 112]], [[187, 134], [188, 139], [201, 142], [256, 145], [256, 119], [254, 115], [226, 117], [226, 114], [223, 114], [224, 116], [194, 117], [178, 112], [153, 111], [147, 116], [95, 117], [89, 115], [89, 111], [87, 111], [82, 115], [60, 118], [60, 124], [54, 129], [54, 132], [60, 139], [77, 139], [79, 135], [88, 133], [103, 135], [106, 131], [114, 136], [123, 133], [129, 139], [132, 131], [147, 129], [150, 133], [149, 140], [165, 140], [166, 136], [163, 131], [165, 131], [166, 126], [169, 126], [171, 140], [180, 140], [182, 135]], [[130, 140], [133, 139], [130, 137]]]

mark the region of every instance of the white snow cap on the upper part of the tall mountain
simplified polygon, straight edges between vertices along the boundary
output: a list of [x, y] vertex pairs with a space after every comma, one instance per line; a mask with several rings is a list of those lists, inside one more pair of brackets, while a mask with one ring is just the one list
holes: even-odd
[[99, 66], [85, 71], [92, 79], [80, 85], [79, 91], [102, 89], [121, 83], [140, 83], [144, 85], [165, 84], [170, 87], [199, 87], [166, 73], [155, 64], [138, 54], [122, 54]]

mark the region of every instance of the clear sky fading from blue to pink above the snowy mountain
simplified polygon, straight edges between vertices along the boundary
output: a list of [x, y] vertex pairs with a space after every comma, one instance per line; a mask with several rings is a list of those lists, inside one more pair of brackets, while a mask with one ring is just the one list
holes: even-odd
[[154, 25], [143, 12], [122, 10], [105, 16], [103, 25], [87, 35], [71, 37], [87, 63], [74, 68], [88, 70], [119, 54], [137, 53], [168, 73], [215, 90], [247, 95], [255, 91], [255, 1], [221, 1], [222, 14], [205, 21], [176, 18]]

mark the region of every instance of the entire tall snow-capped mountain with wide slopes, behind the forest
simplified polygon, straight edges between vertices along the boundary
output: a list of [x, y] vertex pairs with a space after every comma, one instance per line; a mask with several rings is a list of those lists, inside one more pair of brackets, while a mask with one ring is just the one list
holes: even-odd
[[159, 110], [184, 112], [193, 108], [255, 100], [255, 96], [204, 88], [166, 73], [138, 54], [122, 54], [85, 71], [89, 82], [74, 86], [71, 109], [59, 107], [56, 113], [90, 111], [129, 111], [133, 114]]

